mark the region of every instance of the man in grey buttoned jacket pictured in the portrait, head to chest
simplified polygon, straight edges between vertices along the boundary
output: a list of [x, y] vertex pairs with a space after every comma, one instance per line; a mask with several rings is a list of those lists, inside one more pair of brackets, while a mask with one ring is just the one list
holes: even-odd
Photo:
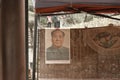
[[60, 29], [51, 32], [52, 45], [47, 48], [47, 60], [69, 60], [69, 48], [64, 47], [65, 33]]

